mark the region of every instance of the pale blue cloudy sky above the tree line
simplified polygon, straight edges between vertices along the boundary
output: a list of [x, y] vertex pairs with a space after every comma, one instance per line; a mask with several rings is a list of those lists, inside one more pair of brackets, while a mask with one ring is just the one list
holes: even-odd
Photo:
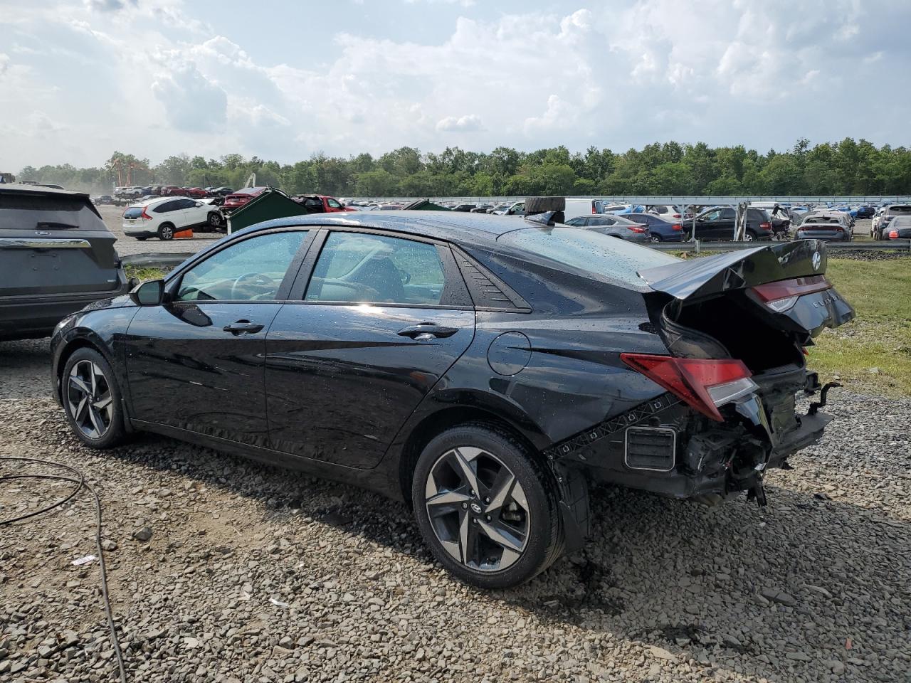
[[0, 171], [908, 146], [908, 0], [0, 0]]

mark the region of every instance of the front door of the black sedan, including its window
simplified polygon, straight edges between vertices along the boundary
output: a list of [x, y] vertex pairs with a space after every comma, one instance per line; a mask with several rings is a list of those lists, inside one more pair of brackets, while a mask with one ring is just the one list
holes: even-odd
[[139, 309], [126, 343], [132, 417], [268, 445], [266, 332], [307, 235], [280, 230], [231, 242], [169, 280], [172, 301]]

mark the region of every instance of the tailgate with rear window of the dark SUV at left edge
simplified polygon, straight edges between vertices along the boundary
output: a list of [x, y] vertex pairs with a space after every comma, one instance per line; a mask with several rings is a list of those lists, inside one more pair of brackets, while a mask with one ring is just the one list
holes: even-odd
[[0, 302], [116, 291], [115, 240], [87, 195], [0, 186]]

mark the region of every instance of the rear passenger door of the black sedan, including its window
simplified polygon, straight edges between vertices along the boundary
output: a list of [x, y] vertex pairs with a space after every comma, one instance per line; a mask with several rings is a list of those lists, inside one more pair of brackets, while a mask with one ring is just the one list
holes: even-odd
[[272, 448], [374, 467], [472, 342], [470, 304], [448, 247], [329, 233], [266, 339]]

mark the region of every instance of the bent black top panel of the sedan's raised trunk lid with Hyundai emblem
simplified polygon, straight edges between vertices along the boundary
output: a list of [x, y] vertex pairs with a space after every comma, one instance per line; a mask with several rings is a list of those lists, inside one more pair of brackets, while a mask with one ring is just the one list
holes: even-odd
[[826, 264], [823, 240], [800, 240], [681, 260], [637, 274], [652, 290], [683, 301], [765, 282], [823, 275]]

